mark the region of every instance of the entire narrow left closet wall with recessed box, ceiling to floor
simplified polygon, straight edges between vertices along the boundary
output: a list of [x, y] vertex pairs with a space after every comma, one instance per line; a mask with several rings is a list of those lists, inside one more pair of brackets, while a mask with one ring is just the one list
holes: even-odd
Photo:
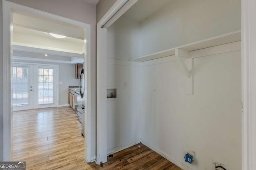
[[[126, 62], [122, 61], [138, 53], [138, 31], [138, 21], [126, 17], [107, 29], [107, 86], [118, 86], [117, 99], [107, 99], [108, 153], [117, 148], [124, 149], [124, 146], [140, 139], [137, 107], [139, 67], [125, 65]], [[127, 88], [124, 82], [128, 83]]]

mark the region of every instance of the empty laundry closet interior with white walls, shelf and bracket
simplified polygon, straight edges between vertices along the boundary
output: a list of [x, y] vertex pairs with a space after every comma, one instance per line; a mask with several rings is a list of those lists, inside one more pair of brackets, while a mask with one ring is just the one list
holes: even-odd
[[182, 169], [241, 170], [240, 30], [240, 0], [138, 0], [110, 25], [107, 154], [141, 142]]

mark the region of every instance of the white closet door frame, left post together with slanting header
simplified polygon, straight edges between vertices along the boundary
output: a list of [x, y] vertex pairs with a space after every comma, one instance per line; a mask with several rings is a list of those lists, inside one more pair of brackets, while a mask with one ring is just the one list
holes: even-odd
[[[96, 163], [107, 162], [107, 28], [138, 0], [116, 0], [97, 23], [97, 118]], [[107, 23], [107, 24], [106, 24]], [[104, 27], [102, 27], [104, 25]]]

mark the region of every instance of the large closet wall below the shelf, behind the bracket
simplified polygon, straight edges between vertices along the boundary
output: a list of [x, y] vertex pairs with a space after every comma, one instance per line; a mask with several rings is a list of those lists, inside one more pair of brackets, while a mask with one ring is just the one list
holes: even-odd
[[[141, 67], [142, 143], [194, 170], [241, 170], [241, 51], [195, 58], [194, 95], [185, 79], [177, 61]], [[188, 150], [196, 165], [184, 162]]]

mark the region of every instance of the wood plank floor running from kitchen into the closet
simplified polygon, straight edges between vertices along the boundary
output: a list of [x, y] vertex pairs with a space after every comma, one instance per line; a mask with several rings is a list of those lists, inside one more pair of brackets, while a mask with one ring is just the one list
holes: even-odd
[[26, 170], [181, 170], [139, 143], [113, 154], [103, 168], [84, 161], [81, 123], [70, 107], [13, 113], [13, 160]]

